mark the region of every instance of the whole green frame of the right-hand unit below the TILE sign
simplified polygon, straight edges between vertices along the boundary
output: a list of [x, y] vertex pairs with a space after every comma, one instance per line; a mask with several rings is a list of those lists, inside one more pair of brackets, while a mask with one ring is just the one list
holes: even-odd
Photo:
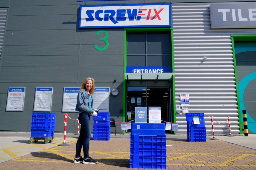
[[245, 42], [245, 41], [253, 41], [256, 42], [256, 35], [231, 35], [231, 41], [232, 41], [232, 49], [233, 49], [233, 59], [234, 59], [234, 70], [235, 70], [235, 84], [236, 84], [236, 90], [237, 90], [237, 107], [238, 107], [238, 118], [239, 118], [239, 129], [240, 134], [243, 134], [242, 131], [242, 118], [241, 118], [241, 111], [240, 111], [240, 99], [239, 99], [239, 91], [238, 91], [238, 80], [237, 80], [237, 64], [235, 60], [235, 45], [234, 42]]

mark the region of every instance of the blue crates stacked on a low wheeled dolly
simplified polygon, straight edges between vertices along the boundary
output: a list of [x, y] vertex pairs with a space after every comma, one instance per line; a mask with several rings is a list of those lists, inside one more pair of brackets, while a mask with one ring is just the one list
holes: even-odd
[[56, 113], [32, 113], [31, 137], [53, 137]]

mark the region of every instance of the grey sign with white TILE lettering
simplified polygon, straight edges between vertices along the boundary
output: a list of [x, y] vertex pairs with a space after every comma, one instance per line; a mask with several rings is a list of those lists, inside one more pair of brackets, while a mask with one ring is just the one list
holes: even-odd
[[210, 5], [211, 28], [256, 28], [256, 3]]

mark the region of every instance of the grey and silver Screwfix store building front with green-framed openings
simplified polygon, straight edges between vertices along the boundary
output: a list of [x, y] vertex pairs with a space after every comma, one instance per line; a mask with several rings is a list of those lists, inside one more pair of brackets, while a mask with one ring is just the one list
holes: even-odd
[[[135, 107], [160, 107], [162, 123], [178, 123], [166, 133], [186, 134], [189, 112], [204, 113], [207, 135], [211, 115], [215, 134], [229, 133], [230, 116], [240, 135], [246, 110], [256, 133], [255, 9], [256, 1], [2, 1], [0, 129], [29, 132], [35, 88], [52, 87], [63, 132], [63, 114], [77, 117], [63, 111], [63, 89], [93, 77], [110, 89], [116, 122], [133, 122]], [[9, 87], [26, 87], [22, 111], [6, 109]], [[76, 132], [77, 122], [68, 122], [67, 132]]]

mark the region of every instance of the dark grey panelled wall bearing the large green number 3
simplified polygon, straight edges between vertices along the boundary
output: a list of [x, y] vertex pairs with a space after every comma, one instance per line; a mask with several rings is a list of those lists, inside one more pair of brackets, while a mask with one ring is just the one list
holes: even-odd
[[[86, 77], [93, 77], [96, 87], [119, 90], [117, 97], [110, 95], [109, 111], [116, 121], [122, 121], [124, 30], [104, 29], [109, 47], [97, 51], [94, 44], [104, 47], [100, 38], [105, 35], [96, 35], [101, 29], [78, 29], [80, 4], [73, 0], [11, 0], [0, 67], [1, 131], [30, 131], [35, 88], [40, 86], [53, 87], [55, 131], [63, 132], [63, 88], [80, 87]], [[26, 87], [21, 112], [5, 111], [10, 86]], [[68, 114], [77, 118], [77, 113]], [[67, 131], [77, 132], [77, 122], [68, 119]], [[117, 132], [121, 132], [120, 124]]]

